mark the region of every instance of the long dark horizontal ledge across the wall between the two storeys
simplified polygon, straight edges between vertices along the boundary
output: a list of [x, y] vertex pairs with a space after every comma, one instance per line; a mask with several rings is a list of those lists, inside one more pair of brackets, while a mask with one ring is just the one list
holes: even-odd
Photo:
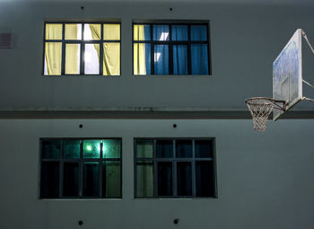
[[[252, 119], [248, 110], [0, 110], [0, 119]], [[272, 116], [269, 117], [272, 119]], [[281, 119], [314, 119], [314, 110]]]

